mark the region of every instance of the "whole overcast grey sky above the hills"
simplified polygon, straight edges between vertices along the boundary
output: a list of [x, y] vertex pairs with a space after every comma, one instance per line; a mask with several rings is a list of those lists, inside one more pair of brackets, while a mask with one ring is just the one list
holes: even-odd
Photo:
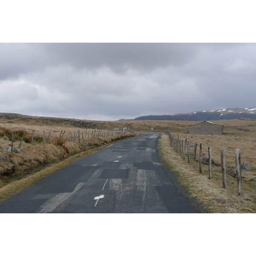
[[256, 108], [254, 43], [1, 43], [0, 112], [90, 120]]

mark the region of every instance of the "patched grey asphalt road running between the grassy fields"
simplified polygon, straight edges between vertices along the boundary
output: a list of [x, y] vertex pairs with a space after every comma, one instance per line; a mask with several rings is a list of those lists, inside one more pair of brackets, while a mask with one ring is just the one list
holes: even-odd
[[161, 166], [159, 137], [142, 134], [95, 151], [3, 201], [0, 213], [200, 212]]

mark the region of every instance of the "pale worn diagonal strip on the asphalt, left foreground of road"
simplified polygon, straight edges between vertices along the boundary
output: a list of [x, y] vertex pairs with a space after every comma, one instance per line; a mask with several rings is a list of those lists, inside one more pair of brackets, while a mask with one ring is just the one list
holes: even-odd
[[53, 197], [52, 199], [48, 200], [45, 202], [43, 205], [41, 205], [41, 210], [38, 213], [47, 213], [47, 212], [52, 212], [54, 209], [56, 209], [61, 203], [66, 201], [70, 196], [75, 194], [81, 187], [84, 185], [84, 182], [80, 182], [76, 188], [69, 193], [60, 193]]

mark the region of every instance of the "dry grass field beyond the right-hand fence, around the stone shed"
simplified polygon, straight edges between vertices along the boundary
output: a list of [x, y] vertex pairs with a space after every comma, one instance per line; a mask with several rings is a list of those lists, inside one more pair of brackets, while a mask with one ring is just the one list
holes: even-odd
[[[226, 151], [226, 166], [235, 166], [235, 149], [239, 148], [241, 153], [241, 163], [247, 161], [253, 167], [252, 171], [244, 172], [245, 180], [249, 180], [256, 174], [256, 120], [225, 120], [218, 121], [218, 124], [224, 125], [224, 134], [184, 134], [172, 132], [174, 137], [179, 139], [203, 144], [203, 152], [208, 157], [208, 145], [212, 146], [212, 159], [221, 162], [220, 148]], [[249, 126], [251, 125], [251, 126]], [[237, 126], [237, 127], [232, 127]], [[192, 148], [192, 151], [194, 148]], [[199, 148], [197, 149], [199, 157]], [[255, 177], [255, 176], [254, 176]]]

